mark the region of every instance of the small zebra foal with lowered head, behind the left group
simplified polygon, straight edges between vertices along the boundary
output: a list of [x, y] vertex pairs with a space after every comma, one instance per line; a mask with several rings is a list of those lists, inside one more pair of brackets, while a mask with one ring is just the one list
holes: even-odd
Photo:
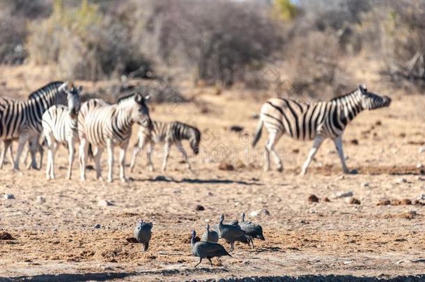
[[164, 143], [164, 159], [162, 163], [162, 171], [167, 169], [167, 159], [169, 157], [169, 148], [175, 144], [183, 155], [183, 159], [187, 165], [187, 169], [192, 170], [190, 162], [187, 160], [187, 154], [182, 146], [182, 140], [189, 140], [190, 147], [196, 154], [199, 153], [199, 142], [201, 141], [201, 132], [196, 127], [186, 125], [185, 123], [179, 123], [175, 121], [173, 123], [162, 123], [160, 121], [152, 121], [150, 127], [139, 128], [139, 139], [132, 153], [132, 162], [130, 165], [130, 171], [133, 171], [134, 164], [136, 164], [136, 157], [140, 150], [142, 150], [145, 144], [148, 144], [147, 159], [150, 171], [153, 171], [152, 163], [152, 151], [155, 143]]

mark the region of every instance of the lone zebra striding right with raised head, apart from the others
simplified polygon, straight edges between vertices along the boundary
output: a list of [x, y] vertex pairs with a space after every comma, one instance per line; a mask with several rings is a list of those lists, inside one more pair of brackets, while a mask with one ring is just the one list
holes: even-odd
[[282, 134], [288, 133], [293, 139], [297, 140], [314, 140], [313, 147], [302, 166], [300, 174], [304, 175], [307, 173], [311, 159], [313, 159], [323, 140], [330, 138], [337, 148], [343, 172], [348, 173], [341, 139], [346, 125], [360, 111], [389, 107], [389, 104], [391, 104], [391, 98], [380, 97], [367, 91], [364, 86], [359, 86], [355, 91], [335, 97], [330, 101], [314, 103], [275, 97], [265, 102], [261, 107], [260, 121], [256, 128], [252, 146], [254, 147], [260, 139], [264, 125], [268, 131], [264, 170], [268, 171], [270, 168], [271, 152], [275, 158], [278, 171], [283, 171], [281, 159], [275, 150], [275, 144]]

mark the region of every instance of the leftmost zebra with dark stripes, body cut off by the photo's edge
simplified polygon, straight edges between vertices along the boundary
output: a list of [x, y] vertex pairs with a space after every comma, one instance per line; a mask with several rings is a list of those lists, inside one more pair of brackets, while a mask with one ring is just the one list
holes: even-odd
[[68, 82], [55, 81], [31, 93], [29, 100], [12, 102], [0, 109], [0, 139], [7, 147], [15, 139], [19, 142], [14, 169], [19, 170], [20, 157], [27, 141], [31, 141], [31, 166], [37, 169], [35, 152], [42, 131], [42, 114], [54, 104], [65, 104], [68, 92]]

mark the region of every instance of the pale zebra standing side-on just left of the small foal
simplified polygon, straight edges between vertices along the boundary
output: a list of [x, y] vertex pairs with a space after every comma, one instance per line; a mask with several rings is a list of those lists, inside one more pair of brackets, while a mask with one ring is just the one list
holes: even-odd
[[100, 179], [100, 156], [108, 151], [108, 182], [112, 182], [114, 146], [120, 147], [120, 178], [125, 182], [125, 152], [130, 141], [133, 123], [150, 126], [149, 109], [140, 93], [127, 95], [116, 104], [107, 104], [100, 99], [88, 100], [78, 115], [79, 162], [81, 179], [86, 180], [88, 145], [93, 146], [96, 178]]

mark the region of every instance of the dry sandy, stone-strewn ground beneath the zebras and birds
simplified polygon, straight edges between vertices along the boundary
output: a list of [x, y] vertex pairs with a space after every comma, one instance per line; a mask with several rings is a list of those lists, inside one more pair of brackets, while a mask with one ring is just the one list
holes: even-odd
[[[233, 94], [200, 91], [195, 102], [153, 105], [153, 118], [185, 121], [203, 132], [201, 153], [191, 158], [193, 173], [178, 162], [175, 151], [166, 173], [149, 172], [141, 157], [134, 173], [127, 170], [130, 181], [125, 184], [117, 180], [117, 165], [112, 184], [95, 181], [94, 171], [80, 182], [77, 162], [74, 180], [64, 180], [63, 148], [56, 158], [56, 180], [45, 180], [44, 168], [13, 172], [7, 164], [0, 172], [0, 195], [15, 199], [0, 199], [0, 231], [14, 240], [0, 240], [0, 281], [313, 275], [304, 277], [308, 280], [328, 274], [354, 279], [425, 273], [425, 206], [377, 205], [383, 199], [415, 200], [425, 194], [423, 169], [416, 168], [425, 164], [425, 152], [419, 153], [425, 146], [423, 96], [393, 96], [390, 108], [361, 113], [348, 125], [343, 140], [356, 175], [341, 177], [333, 143], [325, 141], [309, 175], [301, 178], [297, 173], [311, 142], [283, 137], [278, 147], [284, 173], [264, 173], [262, 146], [249, 146], [257, 123], [252, 114], [261, 101]], [[231, 125], [245, 130], [231, 132]], [[265, 136], [260, 145], [264, 143]], [[159, 158], [158, 150], [157, 168]], [[219, 170], [223, 160], [235, 170]], [[106, 175], [106, 154], [102, 167]], [[360, 205], [333, 197], [341, 191], [353, 191]], [[309, 203], [310, 194], [320, 201]], [[98, 206], [102, 199], [113, 205]], [[196, 211], [196, 205], [205, 210]], [[238, 244], [232, 257], [194, 268], [191, 230], [200, 235], [206, 221], [217, 223], [221, 213], [230, 221], [244, 210], [270, 213], [249, 217], [263, 226], [265, 242], [256, 241], [256, 249]], [[140, 218], [154, 224], [147, 253], [127, 242]], [[95, 224], [101, 227], [93, 228]]]

